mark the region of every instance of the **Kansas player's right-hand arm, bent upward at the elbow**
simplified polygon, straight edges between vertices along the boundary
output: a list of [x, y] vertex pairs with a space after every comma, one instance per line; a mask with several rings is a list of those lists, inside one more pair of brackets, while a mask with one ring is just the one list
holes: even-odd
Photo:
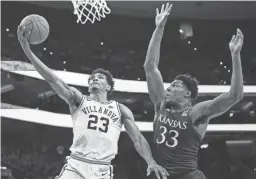
[[230, 109], [234, 104], [242, 100], [243, 98], [243, 73], [241, 65], [240, 52], [243, 46], [244, 36], [241, 30], [237, 29], [236, 35], [233, 35], [229, 48], [232, 56], [232, 78], [231, 78], [231, 88], [227, 93], [223, 93], [213, 100], [205, 101], [194, 106], [193, 110], [196, 118], [208, 117], [208, 119], [217, 117], [228, 109]]

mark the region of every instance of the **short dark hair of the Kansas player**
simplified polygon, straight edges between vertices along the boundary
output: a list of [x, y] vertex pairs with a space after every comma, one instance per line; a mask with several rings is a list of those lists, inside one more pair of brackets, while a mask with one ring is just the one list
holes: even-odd
[[191, 99], [195, 100], [198, 94], [198, 80], [189, 74], [182, 74], [175, 77], [175, 80], [181, 80], [191, 91]]

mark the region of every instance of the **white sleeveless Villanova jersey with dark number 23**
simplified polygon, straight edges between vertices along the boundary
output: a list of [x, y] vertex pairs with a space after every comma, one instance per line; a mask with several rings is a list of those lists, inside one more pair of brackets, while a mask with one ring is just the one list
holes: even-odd
[[83, 96], [72, 121], [71, 156], [96, 163], [110, 163], [115, 158], [122, 129], [118, 102], [102, 104]]

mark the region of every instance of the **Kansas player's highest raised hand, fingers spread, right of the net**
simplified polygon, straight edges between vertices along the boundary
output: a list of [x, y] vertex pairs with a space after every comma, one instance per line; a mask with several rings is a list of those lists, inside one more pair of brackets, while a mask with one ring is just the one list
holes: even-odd
[[167, 3], [166, 5], [162, 5], [161, 11], [156, 9], [156, 26], [157, 27], [164, 27], [167, 21], [167, 18], [172, 10], [172, 4]]

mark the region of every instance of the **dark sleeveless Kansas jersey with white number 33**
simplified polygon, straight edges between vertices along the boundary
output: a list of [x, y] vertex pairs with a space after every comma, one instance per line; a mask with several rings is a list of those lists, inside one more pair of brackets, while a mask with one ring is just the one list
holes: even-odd
[[161, 109], [155, 116], [155, 157], [170, 176], [197, 170], [200, 136], [188, 114], [189, 110], [173, 114]]

